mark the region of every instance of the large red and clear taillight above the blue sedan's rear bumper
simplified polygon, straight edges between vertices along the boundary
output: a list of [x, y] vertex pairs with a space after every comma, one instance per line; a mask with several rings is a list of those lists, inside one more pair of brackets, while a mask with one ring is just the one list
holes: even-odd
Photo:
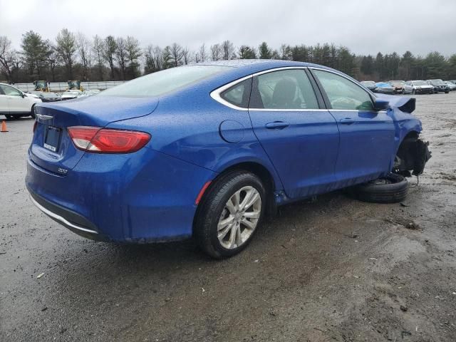
[[79, 150], [93, 153], [136, 152], [150, 140], [144, 132], [90, 126], [69, 127], [68, 133]]

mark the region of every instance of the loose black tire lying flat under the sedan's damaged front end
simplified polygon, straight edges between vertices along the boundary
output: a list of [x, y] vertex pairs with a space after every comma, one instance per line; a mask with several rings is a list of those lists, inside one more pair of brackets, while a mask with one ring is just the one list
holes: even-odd
[[408, 182], [405, 177], [390, 173], [378, 180], [356, 185], [350, 193], [363, 202], [398, 203], [407, 197]]

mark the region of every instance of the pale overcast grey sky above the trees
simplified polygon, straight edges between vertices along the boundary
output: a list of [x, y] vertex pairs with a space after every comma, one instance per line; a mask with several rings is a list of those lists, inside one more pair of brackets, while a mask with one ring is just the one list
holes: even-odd
[[456, 53], [455, 0], [0, 0], [0, 36], [16, 48], [28, 30], [53, 40], [64, 27], [190, 50], [229, 39], [275, 48], [328, 42], [364, 54]]

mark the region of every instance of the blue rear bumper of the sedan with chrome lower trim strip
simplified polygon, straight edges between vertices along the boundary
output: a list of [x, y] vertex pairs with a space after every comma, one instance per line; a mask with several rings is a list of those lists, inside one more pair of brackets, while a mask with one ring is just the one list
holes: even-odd
[[86, 153], [66, 175], [43, 169], [29, 156], [26, 187], [41, 211], [76, 234], [145, 243], [191, 237], [195, 199], [214, 177], [143, 148], [131, 155]]

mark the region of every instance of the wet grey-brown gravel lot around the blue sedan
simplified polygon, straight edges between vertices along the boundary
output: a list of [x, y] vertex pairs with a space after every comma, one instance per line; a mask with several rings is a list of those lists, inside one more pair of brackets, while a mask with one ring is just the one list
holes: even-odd
[[9, 121], [0, 341], [456, 341], [456, 92], [417, 101], [432, 158], [403, 204], [288, 205], [224, 261], [59, 226], [24, 188], [33, 120]]

